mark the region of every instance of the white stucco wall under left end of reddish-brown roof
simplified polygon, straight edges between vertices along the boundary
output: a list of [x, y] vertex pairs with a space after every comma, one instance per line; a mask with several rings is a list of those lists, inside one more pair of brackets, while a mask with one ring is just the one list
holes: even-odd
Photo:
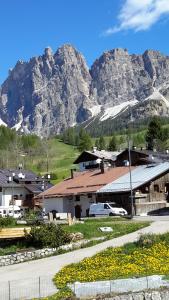
[[44, 199], [43, 208], [46, 213], [49, 213], [52, 210], [56, 210], [60, 213], [63, 211], [63, 198], [48, 198]]

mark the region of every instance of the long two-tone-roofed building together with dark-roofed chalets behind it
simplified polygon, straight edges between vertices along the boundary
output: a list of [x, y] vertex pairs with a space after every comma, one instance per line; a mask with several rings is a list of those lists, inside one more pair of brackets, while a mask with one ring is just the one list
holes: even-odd
[[[46, 213], [89, 216], [93, 203], [115, 203], [128, 214], [146, 215], [167, 206], [169, 201], [168, 154], [131, 150], [129, 153], [84, 151], [75, 160], [78, 171], [70, 178], [38, 194], [35, 206]], [[131, 189], [133, 199], [131, 199]]]

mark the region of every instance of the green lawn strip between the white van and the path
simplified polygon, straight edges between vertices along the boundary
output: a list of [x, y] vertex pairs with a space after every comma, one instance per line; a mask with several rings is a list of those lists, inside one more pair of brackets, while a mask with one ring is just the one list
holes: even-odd
[[[81, 232], [84, 238], [91, 239], [95, 237], [106, 236], [107, 239], [118, 237], [140, 228], [148, 226], [149, 222], [134, 222], [125, 218], [108, 217], [108, 218], [91, 218], [84, 221], [84, 224], [75, 224], [66, 226], [68, 232]], [[112, 232], [102, 232], [100, 227], [111, 227]]]

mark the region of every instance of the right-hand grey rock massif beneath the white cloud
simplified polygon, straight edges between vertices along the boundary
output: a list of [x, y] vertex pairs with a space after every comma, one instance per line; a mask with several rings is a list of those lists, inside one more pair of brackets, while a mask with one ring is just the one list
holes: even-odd
[[91, 68], [92, 94], [101, 105], [144, 100], [154, 87], [169, 83], [169, 57], [158, 51], [129, 55], [126, 49], [105, 52]]

